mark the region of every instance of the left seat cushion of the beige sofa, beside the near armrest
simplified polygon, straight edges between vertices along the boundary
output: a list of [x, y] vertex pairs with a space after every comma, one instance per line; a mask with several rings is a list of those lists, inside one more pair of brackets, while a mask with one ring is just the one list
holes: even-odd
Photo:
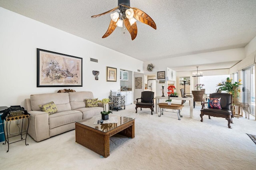
[[63, 111], [49, 115], [50, 129], [82, 120], [80, 111]]

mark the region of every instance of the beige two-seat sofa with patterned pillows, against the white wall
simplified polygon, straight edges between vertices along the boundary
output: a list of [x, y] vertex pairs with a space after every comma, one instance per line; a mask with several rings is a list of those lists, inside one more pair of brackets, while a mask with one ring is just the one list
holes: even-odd
[[[30, 113], [28, 134], [37, 142], [75, 128], [75, 122], [100, 115], [99, 107], [86, 107], [85, 99], [94, 99], [92, 92], [48, 93], [30, 95], [25, 109]], [[42, 112], [39, 105], [54, 102], [58, 111], [52, 115]]]

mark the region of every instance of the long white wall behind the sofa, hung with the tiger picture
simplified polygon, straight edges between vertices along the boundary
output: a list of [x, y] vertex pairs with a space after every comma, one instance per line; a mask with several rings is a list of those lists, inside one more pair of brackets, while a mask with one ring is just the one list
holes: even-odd
[[[0, 8], [0, 30], [1, 106], [23, 106], [30, 94], [56, 93], [59, 89], [92, 91], [95, 98], [108, 98], [110, 89], [120, 88], [120, 68], [143, 70], [138, 59], [4, 8]], [[36, 87], [36, 48], [83, 58], [83, 87]], [[98, 63], [91, 62], [90, 57]], [[106, 81], [106, 66], [117, 68], [117, 82]], [[100, 71], [99, 80], [94, 79], [92, 70]]]

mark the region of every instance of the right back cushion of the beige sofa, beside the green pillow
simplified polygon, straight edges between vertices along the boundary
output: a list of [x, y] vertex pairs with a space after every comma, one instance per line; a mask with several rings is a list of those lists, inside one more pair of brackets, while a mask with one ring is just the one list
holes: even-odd
[[85, 107], [85, 99], [93, 99], [91, 91], [69, 92], [69, 100], [72, 110]]

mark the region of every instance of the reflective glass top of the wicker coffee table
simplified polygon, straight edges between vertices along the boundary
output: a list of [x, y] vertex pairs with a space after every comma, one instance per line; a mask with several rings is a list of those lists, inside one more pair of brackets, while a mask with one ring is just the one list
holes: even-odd
[[[129, 121], [134, 120], [134, 118], [131, 118], [131, 117], [114, 115], [114, 114], [109, 114], [108, 117], [109, 117], [109, 120], [104, 121], [102, 124], [97, 123], [98, 120], [101, 119], [101, 115], [97, 115], [97, 116], [91, 117], [89, 119], [83, 119], [81, 121], [77, 121], [76, 123], [80, 123], [82, 125], [100, 130], [102, 132], [108, 132], [118, 126], [121, 126]], [[114, 120], [114, 121], [112, 121], [112, 120]], [[111, 121], [117, 122], [117, 123], [105, 123], [105, 122], [111, 122]]]

